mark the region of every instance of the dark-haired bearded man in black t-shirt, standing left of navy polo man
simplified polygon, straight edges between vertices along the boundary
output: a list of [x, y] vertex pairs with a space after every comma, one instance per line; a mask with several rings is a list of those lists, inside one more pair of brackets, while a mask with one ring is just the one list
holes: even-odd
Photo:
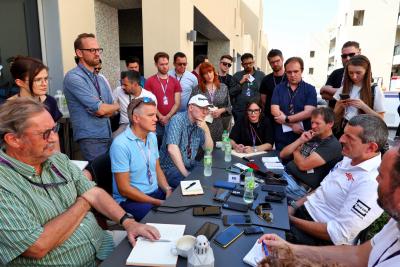
[[272, 73], [263, 78], [260, 85], [261, 102], [263, 104], [264, 114], [274, 123], [274, 117], [271, 115], [271, 98], [275, 87], [286, 80], [285, 69], [283, 68], [283, 55], [278, 49], [272, 49], [267, 55], [268, 63], [272, 68]]

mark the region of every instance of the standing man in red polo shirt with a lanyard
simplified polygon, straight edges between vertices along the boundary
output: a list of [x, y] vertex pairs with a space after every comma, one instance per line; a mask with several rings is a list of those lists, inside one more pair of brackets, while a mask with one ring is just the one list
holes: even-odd
[[161, 144], [164, 127], [171, 117], [179, 110], [181, 104], [181, 85], [179, 81], [168, 75], [169, 55], [158, 52], [154, 55], [154, 65], [157, 73], [146, 80], [144, 88], [157, 98], [157, 141]]

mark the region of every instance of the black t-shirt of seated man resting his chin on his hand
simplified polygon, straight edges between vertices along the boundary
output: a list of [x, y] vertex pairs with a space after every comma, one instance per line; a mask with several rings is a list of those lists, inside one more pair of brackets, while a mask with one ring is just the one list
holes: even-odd
[[329, 171], [335, 166], [337, 162], [342, 160], [342, 146], [335, 136], [331, 135], [325, 139], [314, 138], [305, 143], [300, 150], [300, 153], [307, 157], [311, 153], [318, 153], [318, 155], [325, 160], [325, 164], [314, 168], [312, 171], [301, 171], [297, 168], [294, 160], [286, 165], [286, 170], [295, 179], [300, 180], [311, 188], [315, 189], [319, 186], [321, 181], [328, 175]]

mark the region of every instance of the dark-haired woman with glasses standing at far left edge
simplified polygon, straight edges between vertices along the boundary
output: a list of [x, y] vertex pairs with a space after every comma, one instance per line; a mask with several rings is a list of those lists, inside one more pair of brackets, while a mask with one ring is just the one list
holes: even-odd
[[[62, 118], [63, 114], [58, 109], [56, 99], [47, 94], [49, 73], [46, 65], [36, 58], [17, 56], [11, 65], [10, 72], [15, 84], [19, 87], [19, 93], [8, 100], [17, 97], [35, 98], [46, 106], [54, 122]], [[57, 130], [58, 127], [53, 129], [53, 131]], [[60, 150], [59, 142], [56, 144], [56, 150]]]

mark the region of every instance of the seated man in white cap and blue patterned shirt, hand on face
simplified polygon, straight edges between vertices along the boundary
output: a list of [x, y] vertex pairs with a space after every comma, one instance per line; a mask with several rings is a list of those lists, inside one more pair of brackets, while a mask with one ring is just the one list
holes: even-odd
[[210, 106], [205, 96], [192, 96], [188, 110], [176, 114], [165, 129], [160, 162], [173, 188], [190, 174], [196, 164], [195, 157], [199, 148], [213, 148], [210, 129], [204, 120]]

